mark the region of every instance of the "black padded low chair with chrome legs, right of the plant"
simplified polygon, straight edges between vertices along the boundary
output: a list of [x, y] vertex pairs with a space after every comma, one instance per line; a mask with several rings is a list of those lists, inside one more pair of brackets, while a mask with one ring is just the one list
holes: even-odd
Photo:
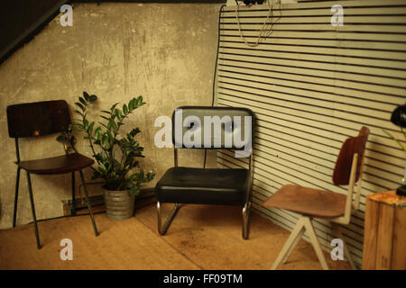
[[[213, 128], [213, 129], [212, 129]], [[248, 238], [253, 176], [254, 113], [245, 108], [183, 106], [172, 114], [175, 166], [156, 184], [158, 231], [164, 235], [180, 203], [240, 205], [243, 238]], [[249, 168], [178, 166], [178, 148], [230, 149], [249, 157]], [[242, 151], [243, 150], [243, 151]], [[174, 203], [162, 225], [161, 203]]]

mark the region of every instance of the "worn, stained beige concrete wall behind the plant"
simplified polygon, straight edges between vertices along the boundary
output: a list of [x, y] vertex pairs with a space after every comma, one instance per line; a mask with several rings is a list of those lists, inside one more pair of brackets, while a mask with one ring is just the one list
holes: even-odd
[[[99, 97], [97, 109], [105, 109], [142, 94], [147, 104], [130, 117], [126, 129], [139, 126], [143, 131], [139, 140], [146, 157], [141, 166], [154, 170], [159, 179], [172, 166], [173, 151], [154, 146], [159, 129], [153, 121], [171, 116], [180, 105], [211, 103], [218, 10], [219, 4], [74, 4], [72, 27], [60, 26], [58, 16], [8, 58], [0, 66], [0, 228], [12, 225], [16, 171], [6, 106], [65, 99], [73, 108], [85, 90]], [[63, 150], [55, 138], [22, 139], [22, 159], [60, 155]], [[78, 139], [78, 150], [90, 156], [86, 142]], [[202, 151], [180, 153], [180, 165], [201, 166], [202, 156]], [[32, 176], [38, 219], [62, 215], [69, 181], [70, 175]], [[96, 186], [91, 190], [101, 193]], [[17, 221], [31, 220], [22, 174]]]

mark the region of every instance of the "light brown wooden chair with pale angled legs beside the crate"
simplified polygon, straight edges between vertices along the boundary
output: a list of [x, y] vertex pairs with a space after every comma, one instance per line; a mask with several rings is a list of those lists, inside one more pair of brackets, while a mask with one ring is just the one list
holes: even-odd
[[[315, 229], [311, 223], [313, 218], [331, 222], [333, 229], [337, 231], [337, 236], [343, 240], [345, 256], [351, 267], [355, 269], [353, 258], [348, 250], [339, 224], [349, 224], [352, 209], [357, 210], [359, 207], [364, 170], [364, 150], [368, 136], [369, 129], [366, 127], [361, 128], [358, 136], [346, 139], [337, 157], [333, 173], [333, 183], [336, 185], [348, 185], [346, 195], [287, 184], [263, 202], [262, 205], [264, 207], [273, 207], [300, 214], [300, 219], [273, 263], [272, 270], [276, 269], [281, 262], [283, 264], [286, 263], [305, 231], [309, 233], [310, 243], [316, 251], [321, 266], [323, 269], [328, 269], [326, 258], [323, 255]], [[353, 202], [355, 183], [357, 183], [357, 186], [355, 201]]]

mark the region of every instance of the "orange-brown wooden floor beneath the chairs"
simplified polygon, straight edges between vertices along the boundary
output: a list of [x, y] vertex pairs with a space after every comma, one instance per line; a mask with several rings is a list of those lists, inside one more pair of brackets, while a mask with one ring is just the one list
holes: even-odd
[[[164, 205], [164, 211], [171, 207]], [[232, 206], [183, 205], [165, 236], [156, 229], [156, 208], [147, 205], [129, 220], [97, 214], [100, 236], [88, 216], [39, 223], [42, 249], [33, 225], [0, 230], [0, 269], [269, 269], [290, 231], [252, 212], [250, 238], [241, 237], [241, 211]], [[60, 260], [60, 240], [73, 242], [73, 260]], [[333, 261], [330, 269], [349, 269]], [[321, 269], [304, 240], [280, 269]]]

